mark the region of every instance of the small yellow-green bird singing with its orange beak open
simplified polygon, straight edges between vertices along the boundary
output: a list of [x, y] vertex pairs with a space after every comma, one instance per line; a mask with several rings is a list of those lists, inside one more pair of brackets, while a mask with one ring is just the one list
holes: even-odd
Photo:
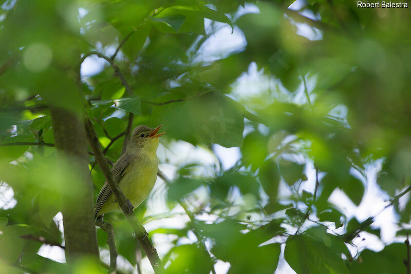
[[[134, 208], [147, 198], [156, 183], [159, 137], [165, 134], [157, 134], [161, 127], [159, 125], [153, 129], [145, 125], [137, 126], [125, 152], [111, 168], [118, 186]], [[120, 207], [106, 181], [97, 196], [94, 217], [97, 219], [104, 213], [115, 210], [120, 210]]]

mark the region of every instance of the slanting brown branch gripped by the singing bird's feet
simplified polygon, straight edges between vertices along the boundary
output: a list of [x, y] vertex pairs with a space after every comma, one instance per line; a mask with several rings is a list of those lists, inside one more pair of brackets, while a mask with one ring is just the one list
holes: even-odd
[[90, 143], [92, 150], [94, 151], [96, 161], [99, 164], [101, 171], [104, 174], [107, 184], [110, 186], [111, 191], [113, 191], [113, 194], [116, 197], [116, 201], [118, 202], [128, 222], [132, 226], [133, 231], [134, 231], [134, 236], [136, 237], [136, 239], [140, 242], [141, 246], [143, 247], [148, 260], [153, 266], [154, 271], [156, 273], [159, 273], [160, 271], [164, 271], [164, 268], [161, 265], [160, 258], [158, 257], [158, 254], [157, 254], [157, 250], [153, 247], [152, 243], [147, 237], [148, 236], [147, 231], [136, 218], [133, 212], [133, 206], [131, 205], [130, 201], [126, 200], [123, 192], [118, 187], [117, 182], [113, 177], [113, 173], [111, 172], [107, 164], [107, 161], [105, 160], [103, 151], [98, 141], [99, 139], [98, 139], [97, 133], [90, 119], [86, 119], [85, 127], [86, 127], [87, 139], [88, 139], [88, 142]]

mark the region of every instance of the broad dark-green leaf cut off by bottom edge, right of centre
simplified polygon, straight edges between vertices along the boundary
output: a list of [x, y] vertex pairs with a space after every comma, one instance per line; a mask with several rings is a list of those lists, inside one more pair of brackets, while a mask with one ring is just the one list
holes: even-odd
[[307, 235], [289, 237], [284, 256], [298, 274], [348, 274], [341, 254]]

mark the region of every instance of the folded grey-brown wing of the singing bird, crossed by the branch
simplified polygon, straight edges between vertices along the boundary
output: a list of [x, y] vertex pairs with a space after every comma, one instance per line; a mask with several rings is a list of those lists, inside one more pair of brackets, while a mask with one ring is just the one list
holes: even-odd
[[[128, 166], [130, 165], [131, 157], [126, 156], [123, 154], [119, 160], [114, 164], [113, 168], [111, 168], [111, 172], [113, 172], [113, 177], [117, 183], [120, 183], [121, 179], [123, 178]], [[94, 208], [94, 218], [97, 218], [97, 214], [99, 213], [101, 207], [107, 201], [107, 199], [111, 195], [111, 188], [107, 184], [107, 181], [104, 182], [103, 187], [100, 190], [100, 193], [97, 197], [96, 206]]]

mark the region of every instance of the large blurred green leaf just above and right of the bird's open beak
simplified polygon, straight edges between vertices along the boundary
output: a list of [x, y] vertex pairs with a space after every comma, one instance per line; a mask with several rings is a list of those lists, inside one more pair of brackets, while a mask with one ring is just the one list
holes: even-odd
[[192, 144], [242, 146], [242, 111], [237, 102], [217, 92], [173, 102], [167, 107], [154, 106], [151, 124], [164, 124], [167, 136]]

